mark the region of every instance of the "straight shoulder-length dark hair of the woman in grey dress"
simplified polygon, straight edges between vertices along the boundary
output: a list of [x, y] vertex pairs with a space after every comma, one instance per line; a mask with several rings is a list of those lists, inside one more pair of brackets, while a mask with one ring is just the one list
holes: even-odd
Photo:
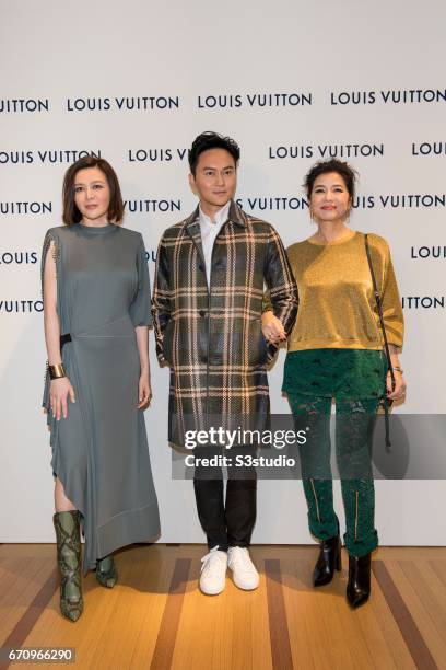
[[104, 173], [108, 188], [110, 189], [110, 204], [107, 215], [108, 220], [113, 223], [121, 223], [124, 219], [124, 203], [116, 172], [105, 159], [93, 155], [86, 155], [79, 159], [79, 161], [70, 165], [64, 174], [62, 189], [63, 223], [66, 226], [73, 226], [82, 221], [82, 215], [74, 203], [74, 182], [78, 172], [87, 168], [98, 168], [101, 172]]

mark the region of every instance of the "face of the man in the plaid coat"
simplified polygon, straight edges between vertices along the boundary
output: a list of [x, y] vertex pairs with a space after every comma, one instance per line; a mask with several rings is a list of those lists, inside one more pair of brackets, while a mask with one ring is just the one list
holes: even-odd
[[226, 149], [208, 149], [198, 159], [195, 176], [189, 174], [192, 192], [201, 205], [218, 210], [234, 197], [237, 187], [237, 166]]

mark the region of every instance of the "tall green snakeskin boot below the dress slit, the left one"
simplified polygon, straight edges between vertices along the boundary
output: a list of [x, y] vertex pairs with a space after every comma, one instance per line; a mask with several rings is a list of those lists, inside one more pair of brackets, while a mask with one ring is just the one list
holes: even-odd
[[78, 621], [83, 612], [79, 520], [78, 510], [56, 512], [52, 517], [60, 573], [60, 611], [70, 621]]

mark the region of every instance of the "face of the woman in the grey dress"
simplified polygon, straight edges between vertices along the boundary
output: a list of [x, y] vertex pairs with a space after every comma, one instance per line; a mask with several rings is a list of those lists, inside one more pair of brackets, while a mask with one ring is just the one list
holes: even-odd
[[110, 189], [107, 177], [98, 168], [85, 168], [74, 177], [74, 203], [85, 224], [101, 226], [108, 222]]

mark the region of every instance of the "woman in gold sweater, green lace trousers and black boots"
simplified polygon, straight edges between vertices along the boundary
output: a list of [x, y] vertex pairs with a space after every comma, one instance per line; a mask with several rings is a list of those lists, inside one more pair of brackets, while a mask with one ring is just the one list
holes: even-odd
[[[398, 400], [406, 391], [398, 359], [403, 317], [389, 247], [383, 238], [368, 235], [395, 383], [384, 351], [365, 235], [347, 226], [355, 176], [347, 163], [330, 160], [314, 165], [305, 177], [317, 231], [287, 250], [300, 308], [283, 380], [296, 423], [309, 427], [301, 466], [309, 530], [320, 542], [314, 586], [329, 584], [334, 569], [341, 569], [330, 467], [330, 414], [336, 402], [336, 452], [349, 553], [347, 598], [353, 608], [368, 599], [371, 552], [378, 544], [371, 463], [376, 412], [383, 398]], [[263, 313], [262, 330], [270, 342], [285, 337], [271, 311]]]

